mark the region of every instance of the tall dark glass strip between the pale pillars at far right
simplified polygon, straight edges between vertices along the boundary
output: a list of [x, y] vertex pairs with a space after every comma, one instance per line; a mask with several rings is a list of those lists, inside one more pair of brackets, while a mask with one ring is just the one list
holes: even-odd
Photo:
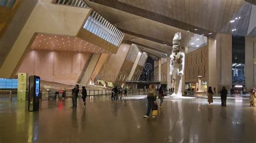
[[245, 86], [245, 37], [232, 35], [232, 86]]

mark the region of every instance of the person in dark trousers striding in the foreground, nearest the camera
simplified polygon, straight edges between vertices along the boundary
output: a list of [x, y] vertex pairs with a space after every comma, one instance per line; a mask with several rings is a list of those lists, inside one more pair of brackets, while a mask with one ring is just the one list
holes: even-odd
[[144, 118], [149, 118], [151, 108], [153, 106], [154, 101], [157, 98], [157, 91], [154, 89], [153, 85], [149, 85], [149, 93], [147, 94], [147, 113]]

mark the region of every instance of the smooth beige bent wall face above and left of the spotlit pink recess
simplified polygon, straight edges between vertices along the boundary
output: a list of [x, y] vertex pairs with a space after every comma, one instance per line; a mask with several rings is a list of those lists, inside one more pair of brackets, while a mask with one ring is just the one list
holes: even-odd
[[[52, 4], [51, 0], [39, 0], [19, 34], [14, 46], [0, 68], [0, 77], [10, 78], [16, 74], [26, 48], [31, 45], [35, 32], [76, 35], [90, 9]], [[18, 65], [18, 66], [17, 66]], [[16, 68], [17, 66], [17, 68]]]

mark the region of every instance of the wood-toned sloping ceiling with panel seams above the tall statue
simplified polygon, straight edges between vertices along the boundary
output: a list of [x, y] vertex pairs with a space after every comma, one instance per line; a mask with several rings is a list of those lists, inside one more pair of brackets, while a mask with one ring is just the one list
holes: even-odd
[[[245, 0], [84, 0], [93, 10], [126, 33], [124, 41], [146, 48], [147, 53], [171, 53], [172, 39], [181, 32], [187, 47], [195, 34], [215, 38], [217, 33], [246, 33], [250, 3]], [[232, 19], [240, 16], [234, 33]], [[247, 26], [248, 27], [248, 26]], [[239, 31], [239, 32], [238, 32]], [[251, 35], [254, 35], [254, 30]], [[148, 50], [149, 49], [149, 50]], [[146, 52], [146, 51], [145, 51]]]

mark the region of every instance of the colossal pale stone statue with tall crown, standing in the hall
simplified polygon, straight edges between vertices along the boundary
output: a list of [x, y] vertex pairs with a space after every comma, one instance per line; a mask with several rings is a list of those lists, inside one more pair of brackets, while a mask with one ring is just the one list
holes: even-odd
[[176, 33], [173, 38], [172, 54], [170, 56], [170, 76], [173, 77], [172, 87], [174, 92], [171, 97], [182, 97], [182, 76], [184, 75], [185, 54], [181, 52], [181, 33]]

